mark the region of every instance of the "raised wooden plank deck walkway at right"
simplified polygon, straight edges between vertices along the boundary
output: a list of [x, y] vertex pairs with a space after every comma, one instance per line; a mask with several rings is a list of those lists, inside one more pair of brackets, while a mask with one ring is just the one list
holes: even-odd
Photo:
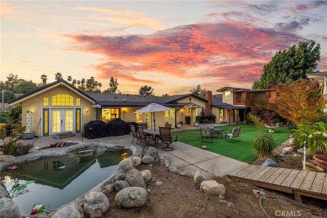
[[327, 201], [327, 173], [248, 165], [230, 174], [233, 179], [255, 186], [293, 193]]

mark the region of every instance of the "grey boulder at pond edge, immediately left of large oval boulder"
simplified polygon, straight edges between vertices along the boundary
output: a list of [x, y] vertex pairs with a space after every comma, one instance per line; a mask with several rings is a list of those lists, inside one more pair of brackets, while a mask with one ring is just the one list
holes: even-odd
[[102, 192], [90, 191], [85, 194], [83, 208], [91, 218], [101, 217], [109, 209], [109, 199]]

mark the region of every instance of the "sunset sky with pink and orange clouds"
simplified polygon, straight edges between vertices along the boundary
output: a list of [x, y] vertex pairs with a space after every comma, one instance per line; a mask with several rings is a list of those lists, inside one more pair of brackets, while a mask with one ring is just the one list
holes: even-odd
[[327, 1], [1, 1], [1, 80], [89, 79], [123, 94], [250, 89], [278, 50], [321, 45]]

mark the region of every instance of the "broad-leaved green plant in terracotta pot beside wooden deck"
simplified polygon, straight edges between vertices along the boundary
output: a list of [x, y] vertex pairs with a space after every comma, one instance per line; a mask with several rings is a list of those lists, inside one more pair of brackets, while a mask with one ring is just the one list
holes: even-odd
[[327, 123], [319, 121], [310, 124], [305, 121], [305, 124], [299, 124], [291, 132], [300, 146], [307, 141], [308, 154], [313, 155], [318, 167], [327, 171]]

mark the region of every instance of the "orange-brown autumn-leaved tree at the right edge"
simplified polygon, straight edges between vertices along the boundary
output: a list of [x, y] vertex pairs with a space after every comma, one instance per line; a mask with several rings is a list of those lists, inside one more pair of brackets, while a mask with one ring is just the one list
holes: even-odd
[[273, 89], [279, 95], [274, 111], [295, 125], [303, 124], [306, 120], [309, 123], [319, 120], [327, 104], [326, 96], [320, 95], [319, 85], [310, 80], [300, 79], [286, 85], [276, 85]]

